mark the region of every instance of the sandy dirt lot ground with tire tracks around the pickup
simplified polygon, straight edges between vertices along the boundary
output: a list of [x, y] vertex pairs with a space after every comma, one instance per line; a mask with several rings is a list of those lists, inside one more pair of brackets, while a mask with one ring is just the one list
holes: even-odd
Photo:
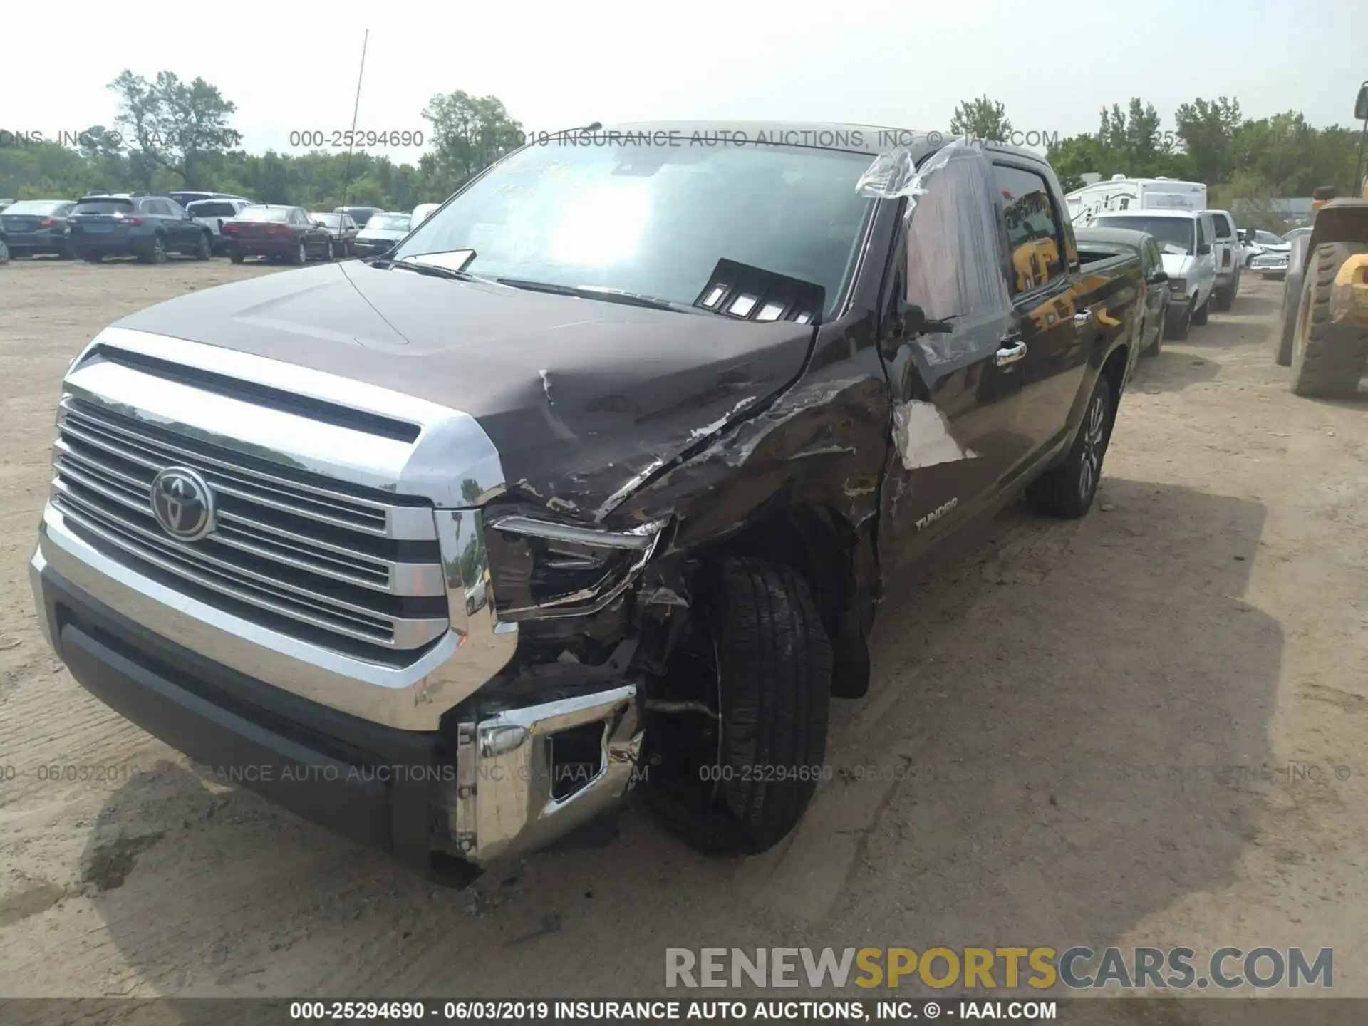
[[666, 947], [1267, 944], [1332, 947], [1368, 996], [1368, 404], [1287, 391], [1280, 286], [1141, 364], [1088, 518], [1008, 510], [885, 605], [871, 694], [834, 706], [847, 774], [781, 850], [631, 814], [458, 892], [196, 776], [38, 632], [67, 363], [265, 272], [0, 268], [0, 993], [624, 997]]

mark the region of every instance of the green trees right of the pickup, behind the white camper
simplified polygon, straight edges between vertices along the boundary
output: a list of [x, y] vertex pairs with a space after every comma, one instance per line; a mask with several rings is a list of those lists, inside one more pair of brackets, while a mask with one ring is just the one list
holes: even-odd
[[[1356, 196], [1358, 130], [1332, 124], [1317, 129], [1300, 111], [1270, 118], [1246, 118], [1239, 101], [1228, 97], [1179, 104], [1174, 127], [1164, 130], [1153, 104], [1133, 97], [1103, 108], [1097, 131], [1059, 138], [1047, 157], [1066, 190], [1083, 183], [1082, 175], [1103, 179], [1182, 178], [1205, 182], [1216, 209], [1244, 211], [1256, 227], [1283, 231], [1286, 226], [1271, 201], [1305, 197], [1320, 186]], [[981, 96], [955, 108], [951, 130], [977, 138], [1008, 140], [1012, 122], [1005, 107]]]

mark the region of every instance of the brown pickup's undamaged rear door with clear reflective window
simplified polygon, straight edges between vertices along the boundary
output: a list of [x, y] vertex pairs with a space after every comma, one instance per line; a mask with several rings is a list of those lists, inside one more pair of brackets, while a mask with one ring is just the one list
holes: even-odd
[[[1021, 337], [1018, 431], [1034, 456], [1063, 438], [1088, 365], [1079, 309], [1078, 249], [1045, 170], [1025, 159], [996, 156], [993, 179], [1012, 254], [1012, 323]], [[1025, 468], [1022, 468], [1025, 469]]]

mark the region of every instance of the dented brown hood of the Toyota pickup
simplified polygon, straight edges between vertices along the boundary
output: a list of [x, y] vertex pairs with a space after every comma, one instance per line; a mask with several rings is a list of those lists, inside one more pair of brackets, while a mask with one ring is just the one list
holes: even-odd
[[782, 390], [815, 331], [358, 261], [190, 293], [118, 326], [464, 410], [498, 447], [510, 490], [588, 518]]

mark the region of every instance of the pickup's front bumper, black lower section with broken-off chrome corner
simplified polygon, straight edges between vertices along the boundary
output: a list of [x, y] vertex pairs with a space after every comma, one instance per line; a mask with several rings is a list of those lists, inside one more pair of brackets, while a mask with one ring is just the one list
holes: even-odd
[[[547, 681], [554, 700], [472, 700], [436, 731], [382, 725], [215, 662], [149, 629], [159, 621], [138, 609], [93, 596], [63, 572], [79, 565], [53, 542], [60, 529], [45, 520], [29, 576], [78, 684], [213, 777], [413, 869], [542, 848], [616, 808], [635, 780], [639, 687], [617, 670], [565, 666]], [[586, 732], [596, 758], [562, 759], [558, 739]]]

